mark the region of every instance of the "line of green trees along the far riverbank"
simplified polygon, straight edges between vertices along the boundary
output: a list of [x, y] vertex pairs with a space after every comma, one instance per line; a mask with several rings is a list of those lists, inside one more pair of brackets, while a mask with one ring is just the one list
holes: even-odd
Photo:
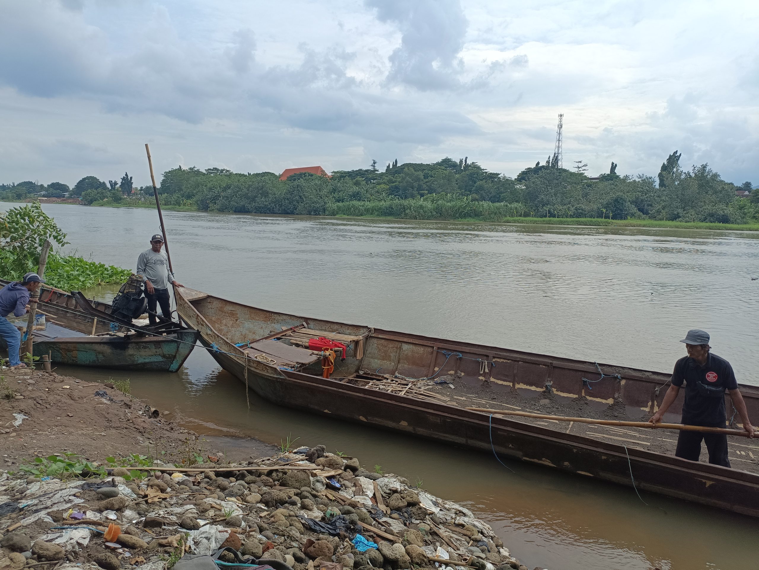
[[[748, 199], [709, 165], [680, 165], [681, 153], [670, 154], [656, 177], [609, 172], [589, 178], [587, 165], [559, 168], [556, 156], [537, 162], [515, 178], [489, 172], [468, 157], [458, 161], [398, 164], [384, 169], [335, 171], [332, 178], [310, 173], [279, 180], [274, 172], [238, 173], [225, 168], [172, 168], [163, 173], [159, 194], [168, 206], [206, 211], [296, 214], [309, 216], [392, 216], [409, 219], [502, 219], [505, 217], [657, 219], [682, 222], [745, 223], [759, 220], [759, 191]], [[132, 192], [131, 178], [106, 185], [82, 178], [71, 194], [87, 203], [102, 200], [149, 203], [152, 187]], [[21, 183], [27, 184], [27, 183]], [[0, 187], [2, 192], [16, 192]], [[31, 183], [29, 183], [31, 184]], [[55, 184], [55, 183], [54, 183]], [[51, 187], [49, 184], [48, 187]], [[129, 192], [124, 192], [128, 187]]]

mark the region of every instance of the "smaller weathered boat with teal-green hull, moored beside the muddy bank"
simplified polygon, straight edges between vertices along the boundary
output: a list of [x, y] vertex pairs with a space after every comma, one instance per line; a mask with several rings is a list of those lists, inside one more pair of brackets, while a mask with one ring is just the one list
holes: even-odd
[[[7, 283], [0, 280], [0, 286]], [[197, 330], [178, 325], [165, 334], [125, 331], [123, 327], [113, 332], [112, 320], [105, 318], [111, 305], [100, 301], [88, 301], [87, 305], [82, 307], [73, 294], [43, 286], [38, 308], [47, 313], [48, 326], [45, 331], [33, 331], [33, 355], [49, 354], [55, 364], [176, 372], [199, 336]]]

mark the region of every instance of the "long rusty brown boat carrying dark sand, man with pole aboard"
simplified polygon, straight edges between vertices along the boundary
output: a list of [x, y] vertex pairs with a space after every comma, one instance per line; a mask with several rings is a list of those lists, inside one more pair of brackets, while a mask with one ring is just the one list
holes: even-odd
[[[200, 331], [210, 354], [269, 402], [759, 516], [759, 474], [470, 411], [414, 392], [408, 382], [402, 391], [388, 387], [398, 378], [446, 373], [457, 383], [487, 383], [525, 398], [551, 392], [647, 417], [669, 374], [311, 319], [189, 288], [176, 293], [181, 319]], [[303, 348], [320, 336], [348, 347], [331, 379], [322, 377], [319, 353]], [[759, 419], [759, 389], [741, 389], [750, 417]], [[678, 421], [679, 411], [666, 420]]]

